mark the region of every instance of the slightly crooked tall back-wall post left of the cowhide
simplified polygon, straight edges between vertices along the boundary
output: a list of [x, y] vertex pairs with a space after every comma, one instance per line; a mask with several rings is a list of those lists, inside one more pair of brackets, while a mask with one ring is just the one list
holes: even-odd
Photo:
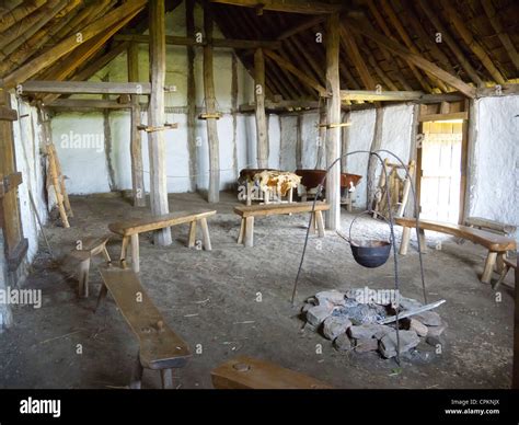
[[216, 115], [215, 79], [212, 76], [212, 13], [211, 4], [204, 7], [204, 27], [206, 31], [206, 45], [204, 46], [204, 91], [206, 100], [207, 140], [209, 143], [209, 191], [207, 200], [218, 203], [220, 200], [220, 152], [218, 141], [217, 119], [210, 117]]

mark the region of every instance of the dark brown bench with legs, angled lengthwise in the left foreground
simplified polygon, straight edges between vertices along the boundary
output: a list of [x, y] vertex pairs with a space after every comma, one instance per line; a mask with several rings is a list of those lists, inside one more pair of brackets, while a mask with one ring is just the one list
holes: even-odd
[[173, 368], [181, 368], [191, 357], [189, 348], [165, 323], [131, 269], [100, 267], [103, 278], [96, 310], [109, 291], [126, 322], [139, 340], [139, 352], [130, 388], [141, 386], [143, 368], [160, 370], [163, 388], [173, 386]]

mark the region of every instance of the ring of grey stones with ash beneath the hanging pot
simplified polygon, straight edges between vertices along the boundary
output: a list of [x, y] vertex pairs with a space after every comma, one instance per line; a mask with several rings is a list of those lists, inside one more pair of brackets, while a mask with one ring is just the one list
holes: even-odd
[[[368, 287], [347, 292], [326, 290], [307, 300], [302, 308], [305, 329], [323, 334], [341, 352], [378, 352], [384, 358], [396, 356], [396, 323], [380, 322], [416, 310], [423, 305], [399, 296], [394, 290]], [[447, 323], [435, 311], [424, 311], [400, 320], [400, 354], [429, 359], [441, 354]], [[423, 353], [418, 353], [422, 351]], [[420, 356], [420, 354], [424, 354]]]

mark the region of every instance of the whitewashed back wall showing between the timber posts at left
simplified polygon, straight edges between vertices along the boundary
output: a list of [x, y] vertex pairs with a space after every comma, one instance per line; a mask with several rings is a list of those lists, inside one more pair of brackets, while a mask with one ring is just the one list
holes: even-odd
[[[203, 12], [197, 5], [195, 10], [197, 31], [203, 30]], [[215, 28], [215, 37], [223, 35]], [[185, 9], [181, 4], [172, 13], [166, 14], [166, 34], [185, 36]], [[237, 181], [237, 173], [247, 164], [256, 162], [255, 147], [246, 146], [246, 140], [255, 140], [254, 119], [250, 116], [232, 114], [232, 62], [231, 49], [215, 49], [215, 90], [218, 108], [223, 116], [218, 122], [220, 142], [220, 188], [228, 188]], [[106, 68], [92, 78], [94, 81], [126, 82], [126, 54], [119, 55]], [[148, 46], [139, 46], [139, 73], [142, 81], [149, 76]], [[238, 96], [237, 104], [253, 101], [253, 80], [237, 60]], [[195, 57], [196, 104], [204, 107], [203, 51], [196, 49]], [[185, 106], [187, 105], [187, 51], [182, 46], [166, 46], [166, 85], [175, 85], [176, 92], [165, 94], [165, 106], [178, 108], [178, 114], [166, 114], [169, 123], [178, 123], [178, 129], [164, 133], [166, 143], [168, 191], [171, 193], [188, 192], [189, 153], [187, 147], [187, 122]], [[94, 97], [94, 96], [81, 96]], [[147, 97], [142, 96], [141, 102]], [[182, 110], [184, 107], [184, 110]], [[235, 122], [234, 122], [235, 120]], [[105, 135], [105, 123], [99, 113], [60, 113], [53, 118], [53, 138], [56, 142], [64, 173], [69, 177], [67, 187], [71, 194], [92, 194], [109, 192], [111, 189], [131, 188], [130, 171], [130, 116], [128, 112], [109, 112], [109, 131]], [[147, 122], [147, 113], [142, 113], [142, 123]], [[79, 135], [82, 146], [67, 146], [67, 138]], [[276, 126], [273, 126], [273, 138], [276, 138]], [[106, 137], [107, 136], [107, 137]], [[209, 185], [209, 158], [206, 122], [198, 120], [196, 137], [199, 137], [197, 148], [197, 175], [199, 188]], [[103, 149], [88, 146], [84, 139], [102, 140]], [[62, 142], [65, 140], [65, 142]], [[109, 150], [109, 152], [107, 151]], [[148, 140], [142, 138], [142, 156], [145, 170], [145, 186], [149, 189]]]

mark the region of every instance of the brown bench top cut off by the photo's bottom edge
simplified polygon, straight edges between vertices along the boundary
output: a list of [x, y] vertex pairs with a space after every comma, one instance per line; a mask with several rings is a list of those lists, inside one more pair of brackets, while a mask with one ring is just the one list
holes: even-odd
[[241, 356], [211, 371], [212, 386], [220, 390], [309, 390], [332, 389], [307, 375], [285, 369], [274, 363]]

